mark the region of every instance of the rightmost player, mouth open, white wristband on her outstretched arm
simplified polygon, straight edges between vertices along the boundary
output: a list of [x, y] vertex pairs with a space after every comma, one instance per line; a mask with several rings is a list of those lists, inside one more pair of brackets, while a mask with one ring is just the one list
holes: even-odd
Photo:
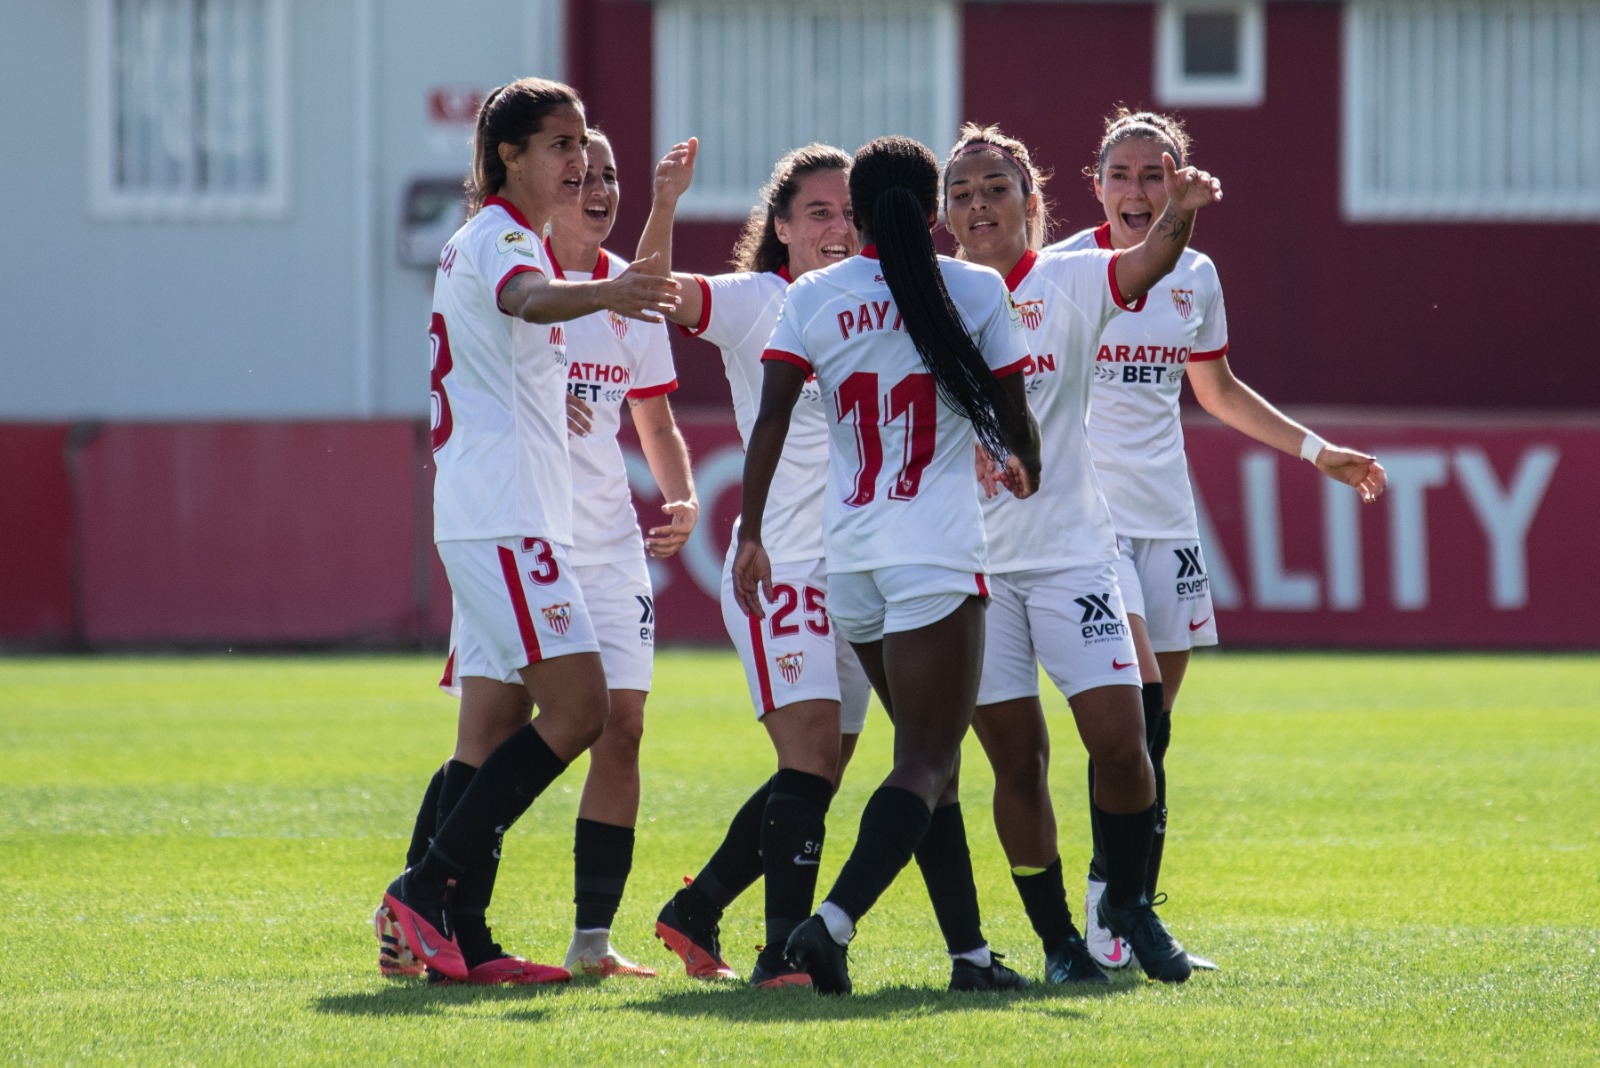
[[[1176, 118], [1115, 110], [1088, 168], [1106, 222], [1051, 248], [1128, 249], [1142, 241], [1168, 205], [1163, 153], [1179, 163], [1189, 158], [1189, 136]], [[1216, 614], [1178, 416], [1182, 379], [1187, 374], [1208, 412], [1262, 444], [1310, 460], [1323, 475], [1355, 488], [1362, 500], [1376, 500], [1386, 484], [1374, 457], [1328, 444], [1234, 377], [1227, 366], [1222, 288], [1203, 253], [1186, 251], [1176, 270], [1152, 286], [1152, 294], [1150, 307], [1114, 320], [1101, 336], [1088, 422], [1094, 470], [1117, 529], [1117, 579], [1139, 651], [1146, 735], [1155, 766], [1155, 847], [1144, 876], [1150, 897], [1166, 838], [1165, 756], [1173, 703], [1189, 651], [1216, 644]], [[1091, 790], [1094, 777], [1091, 761]], [[1102, 838], [1099, 827], [1096, 838]], [[1122, 967], [1128, 962], [1128, 946], [1094, 921], [1107, 875], [1099, 847], [1104, 843], [1096, 844], [1085, 900], [1090, 951], [1102, 964]]]

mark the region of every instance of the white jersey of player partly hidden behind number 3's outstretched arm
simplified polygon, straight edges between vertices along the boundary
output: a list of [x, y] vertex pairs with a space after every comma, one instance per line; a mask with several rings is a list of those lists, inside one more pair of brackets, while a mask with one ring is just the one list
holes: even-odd
[[[627, 261], [600, 249], [594, 273], [565, 270], [555, 249], [546, 253], [557, 278], [589, 281], [627, 270]], [[678, 387], [664, 323], [643, 323], [616, 312], [595, 312], [566, 323], [566, 390], [594, 411], [587, 436], [568, 438], [573, 464], [574, 564], [610, 564], [643, 556], [645, 539], [634, 513], [627, 465], [616, 433], [622, 398], [661, 397]]]

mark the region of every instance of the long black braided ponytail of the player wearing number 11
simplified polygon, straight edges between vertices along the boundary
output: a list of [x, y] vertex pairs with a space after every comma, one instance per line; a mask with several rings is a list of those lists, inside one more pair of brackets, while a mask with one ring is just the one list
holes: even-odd
[[939, 206], [939, 163], [910, 137], [878, 137], [856, 152], [850, 168], [856, 225], [878, 246], [883, 281], [939, 398], [966, 416], [995, 460], [1010, 449], [1000, 414], [1011, 401], [973, 344], [944, 288], [928, 221]]

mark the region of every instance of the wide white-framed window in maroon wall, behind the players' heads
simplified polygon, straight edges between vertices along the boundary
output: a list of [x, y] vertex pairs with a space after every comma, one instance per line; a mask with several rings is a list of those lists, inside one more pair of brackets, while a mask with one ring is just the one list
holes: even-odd
[[955, 139], [950, 2], [662, 0], [654, 35], [656, 150], [701, 139], [680, 216], [742, 219], [778, 157], [811, 141]]

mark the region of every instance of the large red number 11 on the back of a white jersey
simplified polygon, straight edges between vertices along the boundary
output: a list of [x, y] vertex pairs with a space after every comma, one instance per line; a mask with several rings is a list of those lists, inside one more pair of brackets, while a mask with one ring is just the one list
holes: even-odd
[[856, 428], [856, 468], [853, 492], [845, 504], [859, 508], [877, 496], [878, 473], [883, 470], [883, 436], [886, 427], [906, 420], [906, 448], [899, 473], [890, 486], [891, 500], [910, 500], [922, 489], [922, 472], [933, 460], [933, 440], [938, 428], [938, 393], [931, 374], [907, 374], [886, 395], [878, 392], [878, 376], [872, 371], [856, 371], [838, 384], [834, 393], [838, 422], [846, 419]]

